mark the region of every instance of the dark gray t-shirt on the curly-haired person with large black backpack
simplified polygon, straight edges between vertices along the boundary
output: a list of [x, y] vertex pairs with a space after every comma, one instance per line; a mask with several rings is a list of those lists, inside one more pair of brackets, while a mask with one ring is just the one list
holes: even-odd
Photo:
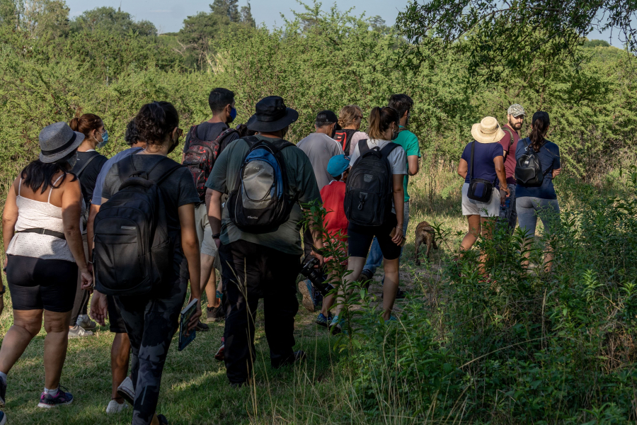
[[[117, 191], [120, 190], [122, 181], [119, 176], [119, 166], [123, 161], [130, 161], [133, 159], [133, 164], [137, 170], [149, 171], [157, 162], [166, 158], [162, 155], [152, 154], [136, 154], [130, 155], [122, 159], [120, 162], [116, 162], [108, 170], [106, 179], [104, 181], [104, 187], [102, 188], [102, 198], [110, 199]], [[172, 161], [172, 160], [171, 160]], [[163, 203], [166, 207], [166, 224], [168, 225], [168, 237], [175, 246], [175, 259], [181, 263], [182, 273], [184, 271], [185, 261], [183, 259], [183, 251], [181, 249], [181, 225], [179, 222], [178, 208], [182, 205], [189, 203], [199, 203], [199, 195], [195, 188], [195, 181], [193, 175], [190, 174], [187, 168], [181, 166], [172, 172], [170, 176], [159, 183], [159, 188], [163, 192]], [[185, 271], [188, 271], [188, 263], [185, 263]]]

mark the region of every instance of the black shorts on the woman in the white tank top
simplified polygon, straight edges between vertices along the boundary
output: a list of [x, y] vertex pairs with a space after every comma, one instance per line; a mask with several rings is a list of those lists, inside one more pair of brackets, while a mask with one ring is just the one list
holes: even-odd
[[77, 264], [72, 261], [8, 255], [6, 281], [13, 310], [73, 310]]

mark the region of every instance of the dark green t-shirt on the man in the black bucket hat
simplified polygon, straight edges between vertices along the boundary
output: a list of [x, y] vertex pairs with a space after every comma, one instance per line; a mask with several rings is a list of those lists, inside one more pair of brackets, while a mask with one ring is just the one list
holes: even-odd
[[[256, 136], [261, 140], [273, 140], [270, 137]], [[301, 149], [296, 146], [286, 147], [282, 151], [285, 167], [287, 169], [287, 179], [289, 194], [297, 194], [299, 202], [294, 204], [289, 220], [279, 226], [276, 232], [252, 234], [242, 232], [230, 220], [227, 205], [224, 204], [222, 212], [222, 229], [219, 239], [223, 244], [230, 244], [239, 239], [268, 246], [286, 254], [301, 255], [303, 247], [301, 244], [302, 220], [301, 203], [309, 203], [312, 200], [321, 202], [321, 193], [316, 184], [314, 169], [309, 162], [309, 158]], [[248, 154], [248, 144], [239, 139], [231, 142], [214, 162], [212, 172], [206, 182], [206, 187], [221, 193], [229, 193], [234, 190], [236, 178], [243, 164], [243, 158]]]

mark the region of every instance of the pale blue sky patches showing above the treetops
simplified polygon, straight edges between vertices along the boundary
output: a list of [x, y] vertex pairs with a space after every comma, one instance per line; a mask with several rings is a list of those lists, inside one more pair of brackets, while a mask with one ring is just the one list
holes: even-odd
[[[210, 11], [213, 0], [67, 0], [67, 6], [71, 8], [71, 18], [82, 12], [100, 6], [122, 7], [122, 11], [130, 13], [137, 21], [145, 19], [155, 24], [161, 33], [172, 33], [180, 30], [183, 20], [187, 16], [195, 15], [200, 11]], [[311, 0], [306, 0], [310, 3]], [[295, 0], [252, 0], [252, 15], [259, 23], [265, 23], [268, 28], [281, 26], [283, 20], [281, 13], [292, 16], [291, 9], [302, 10], [302, 6]], [[239, 0], [239, 6], [245, 6], [247, 0]], [[323, 8], [328, 9], [333, 2], [323, 1]], [[338, 0], [338, 8], [347, 10], [354, 7], [354, 12], [367, 16], [379, 15], [386, 23], [396, 21], [398, 11], [402, 11], [408, 4], [408, 0]], [[617, 32], [616, 32], [617, 34]], [[591, 33], [588, 38], [601, 39], [611, 42], [616, 47], [621, 43], [616, 38], [610, 39], [610, 32], [600, 34]]]

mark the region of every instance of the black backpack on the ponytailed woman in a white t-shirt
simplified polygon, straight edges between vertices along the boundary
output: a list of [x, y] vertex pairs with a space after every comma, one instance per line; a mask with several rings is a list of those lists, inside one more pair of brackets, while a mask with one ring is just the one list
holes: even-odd
[[358, 142], [360, 157], [356, 160], [345, 187], [345, 217], [361, 226], [382, 225], [391, 212], [394, 194], [389, 154], [399, 147], [390, 142], [383, 149], [369, 149], [367, 140]]

